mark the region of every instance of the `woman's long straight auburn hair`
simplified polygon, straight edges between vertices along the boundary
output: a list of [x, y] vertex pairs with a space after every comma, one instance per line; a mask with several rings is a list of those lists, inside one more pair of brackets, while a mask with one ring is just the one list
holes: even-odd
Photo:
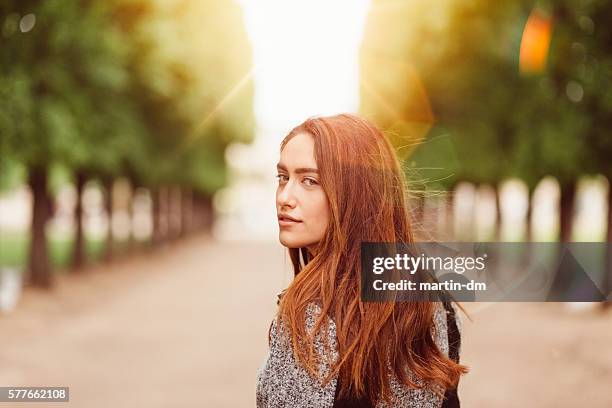
[[[327, 195], [330, 221], [314, 256], [290, 248], [295, 277], [285, 290], [277, 318], [289, 329], [294, 355], [323, 385], [338, 374], [339, 395], [392, 400], [389, 369], [403, 384], [454, 387], [467, 367], [446, 357], [432, 336], [434, 303], [377, 302], [360, 299], [360, 243], [412, 243], [404, 177], [391, 143], [367, 120], [342, 114], [316, 117], [295, 127], [314, 137], [315, 160]], [[312, 302], [321, 308], [312, 330], [304, 324]], [[317, 333], [336, 325], [338, 358], [325, 378], [315, 352]], [[325, 342], [325, 349], [330, 345]], [[436, 392], [441, 392], [434, 387]]]

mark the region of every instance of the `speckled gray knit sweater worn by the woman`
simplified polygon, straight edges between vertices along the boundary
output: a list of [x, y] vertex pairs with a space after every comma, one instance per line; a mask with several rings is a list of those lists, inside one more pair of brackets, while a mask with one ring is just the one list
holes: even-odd
[[[456, 306], [453, 305], [456, 310]], [[311, 332], [321, 309], [316, 304], [311, 304], [306, 312], [306, 329]], [[459, 314], [455, 313], [457, 328], [461, 331], [461, 320]], [[326, 335], [329, 344], [336, 344], [336, 326], [328, 319], [328, 330]], [[446, 310], [442, 303], [436, 302], [434, 313], [434, 328], [432, 331], [434, 341], [440, 350], [448, 356], [448, 338], [446, 335]], [[312, 378], [304, 368], [295, 360], [293, 350], [287, 341], [286, 330], [277, 327], [276, 319], [270, 328], [270, 352], [259, 369], [257, 375], [257, 408], [280, 408], [280, 407], [312, 407], [331, 408], [334, 404], [337, 378], [333, 378], [325, 387]], [[321, 334], [315, 338], [315, 348], [323, 353], [323, 339]], [[332, 349], [332, 360], [338, 357], [337, 350]], [[323, 374], [329, 373], [330, 367], [327, 363], [321, 366]], [[422, 381], [412, 376], [413, 381], [422, 384]], [[442, 398], [437, 395], [434, 388], [408, 388], [400, 384], [395, 376], [390, 378], [393, 392], [393, 407], [419, 407], [433, 408], [442, 405]], [[444, 390], [437, 390], [444, 394]], [[390, 408], [388, 404], [379, 401], [376, 408]]]

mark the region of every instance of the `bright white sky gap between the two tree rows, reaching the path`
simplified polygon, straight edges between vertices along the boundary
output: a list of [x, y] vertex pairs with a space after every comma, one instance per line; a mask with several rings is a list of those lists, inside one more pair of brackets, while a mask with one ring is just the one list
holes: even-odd
[[228, 149], [235, 177], [215, 199], [217, 236], [276, 239], [280, 142], [309, 116], [356, 112], [369, 1], [237, 1], [253, 48], [257, 130], [251, 145]]

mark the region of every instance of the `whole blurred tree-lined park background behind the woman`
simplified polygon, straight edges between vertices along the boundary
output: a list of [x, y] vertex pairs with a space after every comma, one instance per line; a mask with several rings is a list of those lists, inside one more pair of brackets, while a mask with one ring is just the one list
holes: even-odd
[[[601, 0], [3, 1], [0, 385], [254, 406], [292, 278], [279, 144], [313, 115], [385, 130], [420, 240], [612, 242], [610, 21]], [[612, 406], [612, 308], [466, 307], [465, 406]]]

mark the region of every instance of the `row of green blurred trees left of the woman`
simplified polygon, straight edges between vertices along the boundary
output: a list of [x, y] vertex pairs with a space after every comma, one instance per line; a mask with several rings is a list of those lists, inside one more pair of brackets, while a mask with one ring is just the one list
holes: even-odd
[[156, 242], [167, 191], [180, 192], [184, 214], [211, 211], [227, 182], [226, 146], [253, 137], [251, 50], [238, 5], [9, 0], [0, 27], [0, 187], [27, 174], [31, 284], [52, 284], [45, 226], [53, 168], [77, 189], [77, 268], [88, 181], [103, 187], [109, 214], [117, 178], [148, 189]]

